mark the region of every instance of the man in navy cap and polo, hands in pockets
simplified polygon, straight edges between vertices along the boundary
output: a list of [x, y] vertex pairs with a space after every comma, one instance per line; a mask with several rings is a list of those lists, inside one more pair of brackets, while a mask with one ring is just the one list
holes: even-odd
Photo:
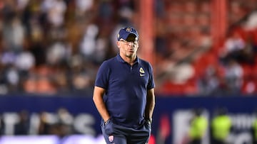
[[93, 100], [103, 118], [101, 130], [107, 144], [146, 144], [155, 106], [153, 69], [136, 55], [134, 28], [121, 28], [116, 44], [119, 53], [96, 75]]

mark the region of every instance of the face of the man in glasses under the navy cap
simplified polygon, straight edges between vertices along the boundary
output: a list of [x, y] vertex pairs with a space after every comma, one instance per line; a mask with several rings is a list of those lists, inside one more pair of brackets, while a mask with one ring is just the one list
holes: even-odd
[[139, 43], [135, 35], [129, 35], [129, 37], [126, 40], [119, 40], [117, 45], [120, 49], [121, 56], [133, 58], [136, 56]]

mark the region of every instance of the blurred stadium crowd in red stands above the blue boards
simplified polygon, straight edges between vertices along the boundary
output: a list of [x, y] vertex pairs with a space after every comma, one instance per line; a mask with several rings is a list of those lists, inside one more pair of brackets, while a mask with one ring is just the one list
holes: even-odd
[[[256, 94], [256, 1], [228, 0], [218, 46], [211, 0], [154, 3], [157, 94]], [[0, 1], [0, 94], [91, 96], [119, 28], [138, 28], [138, 9], [136, 0]]]

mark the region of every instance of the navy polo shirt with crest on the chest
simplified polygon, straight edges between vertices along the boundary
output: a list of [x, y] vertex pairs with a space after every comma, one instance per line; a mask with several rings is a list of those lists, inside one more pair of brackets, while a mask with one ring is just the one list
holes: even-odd
[[95, 86], [106, 89], [104, 102], [113, 121], [136, 128], [143, 122], [147, 90], [155, 86], [153, 68], [138, 57], [131, 66], [118, 54], [99, 67]]

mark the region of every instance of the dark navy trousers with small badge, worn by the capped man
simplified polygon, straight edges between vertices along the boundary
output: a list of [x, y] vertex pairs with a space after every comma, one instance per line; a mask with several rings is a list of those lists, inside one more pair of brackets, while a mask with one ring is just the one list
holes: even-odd
[[101, 121], [101, 131], [107, 144], [146, 144], [151, 135], [151, 123], [143, 121], [138, 128], [120, 126], [109, 119]]

